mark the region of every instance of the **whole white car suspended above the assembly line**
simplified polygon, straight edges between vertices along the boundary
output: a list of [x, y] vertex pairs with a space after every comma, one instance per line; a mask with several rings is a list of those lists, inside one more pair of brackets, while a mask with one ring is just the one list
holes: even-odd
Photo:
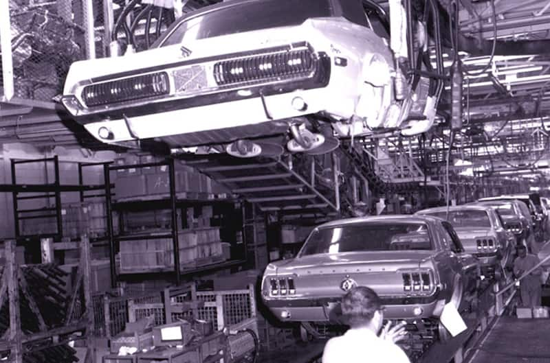
[[188, 13], [151, 49], [75, 62], [61, 101], [99, 141], [173, 153], [251, 157], [266, 148], [259, 139], [322, 153], [338, 146], [335, 134], [424, 132], [437, 103], [421, 94], [430, 80], [404, 89], [373, 23], [384, 22], [360, 0], [223, 1]]

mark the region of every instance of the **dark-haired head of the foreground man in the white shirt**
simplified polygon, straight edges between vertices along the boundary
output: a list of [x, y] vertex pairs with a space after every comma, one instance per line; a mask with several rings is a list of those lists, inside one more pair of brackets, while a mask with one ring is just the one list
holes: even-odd
[[352, 328], [371, 325], [376, 331], [380, 330], [383, 309], [380, 297], [366, 286], [351, 288], [342, 298], [342, 315]]

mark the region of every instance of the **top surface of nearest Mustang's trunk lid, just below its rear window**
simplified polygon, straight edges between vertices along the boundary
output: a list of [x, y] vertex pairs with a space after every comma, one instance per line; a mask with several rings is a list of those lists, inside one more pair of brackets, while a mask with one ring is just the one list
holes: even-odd
[[322, 254], [276, 263], [277, 273], [333, 274], [344, 272], [382, 272], [419, 268], [434, 251], [387, 251]]

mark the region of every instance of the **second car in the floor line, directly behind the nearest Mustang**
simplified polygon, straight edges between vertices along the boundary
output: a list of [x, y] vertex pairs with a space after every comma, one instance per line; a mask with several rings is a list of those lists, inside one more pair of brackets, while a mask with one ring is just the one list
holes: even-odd
[[[448, 220], [467, 253], [478, 257], [485, 277], [503, 277], [505, 268], [514, 262], [516, 237], [507, 231], [500, 215], [492, 207], [461, 205], [418, 211], [417, 215], [432, 215]], [[500, 266], [500, 268], [499, 268]]]

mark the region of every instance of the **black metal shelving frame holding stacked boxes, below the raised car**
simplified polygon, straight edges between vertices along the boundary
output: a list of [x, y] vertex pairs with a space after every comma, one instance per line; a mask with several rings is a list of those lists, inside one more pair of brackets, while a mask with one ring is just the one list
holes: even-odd
[[[230, 261], [222, 261], [219, 263], [209, 264], [206, 266], [197, 266], [195, 268], [181, 268], [181, 261], [179, 261], [179, 231], [178, 231], [178, 210], [184, 208], [184, 207], [191, 207], [195, 205], [212, 205], [212, 204], [220, 204], [220, 203], [232, 203], [234, 204], [234, 200], [226, 199], [226, 200], [220, 200], [220, 199], [214, 199], [214, 200], [208, 200], [208, 199], [200, 199], [198, 196], [189, 196], [187, 193], [178, 193], [176, 191], [176, 182], [175, 182], [175, 161], [173, 159], [166, 159], [164, 161], [159, 162], [152, 162], [152, 163], [140, 163], [140, 164], [131, 164], [131, 165], [104, 165], [104, 185], [111, 185], [111, 172], [113, 171], [120, 171], [120, 170], [127, 170], [127, 169], [139, 169], [144, 167], [167, 167], [168, 172], [168, 194], [159, 194], [158, 196], [146, 196], [146, 198], [131, 198], [130, 200], [120, 200], [115, 201], [113, 200], [113, 192], [110, 188], [105, 189], [105, 198], [106, 198], [106, 209], [107, 209], [107, 237], [109, 239], [109, 256], [111, 259], [111, 285], [113, 287], [116, 285], [118, 280], [118, 274], [116, 271], [116, 259], [115, 255], [117, 253], [117, 244], [120, 243], [120, 241], [126, 239], [126, 240], [139, 240], [139, 239], [151, 239], [151, 238], [171, 238], [173, 242], [173, 261], [174, 261], [174, 268], [173, 271], [163, 270], [163, 271], [153, 271], [157, 272], [159, 274], [169, 272], [170, 274], [173, 273], [175, 276], [175, 283], [179, 285], [181, 283], [182, 277], [191, 277], [195, 276], [197, 274], [204, 274], [207, 272], [212, 272], [214, 270], [219, 269], [225, 269], [225, 268], [232, 268], [234, 266], [243, 265], [247, 259], [247, 251], [245, 243], [243, 242], [243, 248], [242, 251], [236, 251], [237, 253], [240, 253], [241, 256], [237, 259], [232, 259]], [[197, 172], [198, 173], [198, 172]], [[163, 231], [162, 233], [155, 233], [154, 235], [151, 233], [144, 233], [144, 234], [128, 234], [124, 235], [124, 211], [135, 211], [135, 210], [158, 210], [158, 209], [168, 209], [170, 210], [170, 229]], [[119, 226], [120, 226], [120, 233], [119, 235], [115, 235], [114, 229], [113, 229], [113, 211], [119, 212]], [[181, 217], [183, 218], [183, 213], [181, 213]], [[242, 224], [242, 222], [241, 222]], [[242, 225], [241, 225], [242, 227]], [[241, 231], [242, 233], [242, 231]], [[144, 273], [151, 273], [151, 272], [136, 272], [136, 273], [127, 273], [123, 274], [127, 278], [137, 278], [139, 279], [142, 277], [141, 275]], [[121, 274], [122, 275], [122, 274]]]

